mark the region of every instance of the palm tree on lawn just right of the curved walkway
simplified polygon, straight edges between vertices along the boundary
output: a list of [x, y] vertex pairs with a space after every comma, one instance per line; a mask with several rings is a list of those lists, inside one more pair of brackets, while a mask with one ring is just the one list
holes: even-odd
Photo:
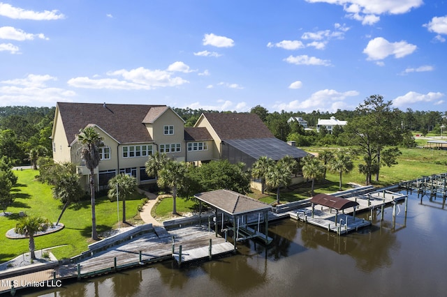
[[187, 167], [185, 162], [168, 160], [165, 167], [159, 170], [159, 178], [156, 183], [159, 187], [169, 187], [173, 191], [173, 214], [177, 214], [177, 190], [183, 186]]

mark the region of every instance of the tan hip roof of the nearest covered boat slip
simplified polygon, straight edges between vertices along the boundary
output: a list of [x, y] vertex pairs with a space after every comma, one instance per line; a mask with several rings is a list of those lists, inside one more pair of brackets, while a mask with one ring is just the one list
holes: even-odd
[[270, 211], [272, 206], [230, 190], [215, 190], [194, 195], [197, 199], [230, 215]]

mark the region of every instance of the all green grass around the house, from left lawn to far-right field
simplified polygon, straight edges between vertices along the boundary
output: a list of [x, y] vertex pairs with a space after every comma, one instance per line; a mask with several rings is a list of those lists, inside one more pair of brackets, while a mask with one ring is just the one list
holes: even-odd
[[[308, 148], [307, 151], [321, 151], [321, 148]], [[402, 155], [398, 158], [399, 164], [394, 167], [381, 168], [378, 186], [391, 185], [402, 180], [410, 180], [423, 175], [439, 174], [447, 172], [447, 151], [438, 151], [422, 148], [401, 149]], [[358, 173], [358, 160], [356, 167], [349, 174], [343, 175], [343, 189], [350, 188], [348, 183], [365, 184], [365, 176]], [[25, 211], [28, 215], [42, 215], [52, 222], [57, 220], [61, 211], [60, 201], [53, 199], [49, 185], [44, 185], [34, 181], [34, 176], [38, 171], [31, 169], [22, 172], [15, 172], [19, 177], [18, 185], [13, 189], [15, 192], [15, 202], [7, 211], [13, 215], [0, 217], [0, 263], [16, 257], [28, 251], [28, 239], [13, 240], [6, 238], [8, 229], [15, 227], [18, 213]], [[325, 181], [319, 181], [315, 185], [316, 193], [330, 193], [338, 190], [338, 174], [327, 173]], [[375, 179], [375, 176], [374, 178]], [[293, 188], [283, 188], [281, 190], [280, 201], [296, 201], [311, 196], [309, 183], [295, 185]], [[249, 194], [250, 197], [260, 199], [267, 203], [276, 201], [276, 192], [269, 192], [261, 195], [259, 192]], [[131, 220], [137, 215], [137, 206], [142, 197], [135, 194], [132, 199], [126, 202], [126, 218]], [[194, 211], [195, 201], [186, 201], [177, 198], [177, 212], [180, 215]], [[121, 204], [120, 204], [121, 206]], [[121, 209], [121, 208], [120, 208]], [[167, 220], [172, 217], [173, 199], [172, 197], [161, 199], [159, 204], [152, 209], [152, 214], [158, 220]], [[121, 218], [121, 215], [120, 215]], [[70, 206], [61, 220], [65, 228], [57, 233], [39, 236], [36, 238], [36, 249], [49, 248], [57, 245], [65, 245], [61, 248], [54, 248], [52, 252], [58, 259], [73, 257], [87, 250], [87, 245], [91, 235], [91, 208], [90, 201], [82, 201], [80, 204]], [[117, 204], [110, 202], [106, 197], [96, 199], [96, 224], [98, 232], [107, 231], [117, 226]]]

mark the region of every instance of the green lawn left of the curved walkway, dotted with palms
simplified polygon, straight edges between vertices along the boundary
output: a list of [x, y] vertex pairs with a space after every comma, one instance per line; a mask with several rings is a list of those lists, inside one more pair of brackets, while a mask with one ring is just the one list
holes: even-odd
[[[7, 211], [13, 213], [7, 217], [0, 216], [0, 263], [28, 252], [28, 238], [9, 239], [6, 231], [15, 227], [18, 213], [24, 211], [27, 215], [41, 215], [51, 222], [56, 222], [61, 213], [62, 203], [52, 198], [49, 185], [38, 183], [34, 176], [37, 170], [26, 169], [17, 171], [17, 185], [13, 188], [15, 201]], [[137, 215], [137, 206], [140, 204], [141, 195], [135, 194], [126, 201], [126, 218], [129, 221]], [[122, 202], [120, 202], [120, 218], [122, 218]], [[107, 197], [96, 198], [96, 225], [98, 232], [107, 231], [117, 225], [117, 202], [110, 202]], [[91, 207], [90, 200], [86, 199], [79, 204], [73, 204], [65, 211], [61, 222], [65, 228], [54, 234], [36, 237], [36, 250], [64, 245], [54, 248], [53, 254], [57, 259], [73, 257], [87, 250], [91, 243]]]

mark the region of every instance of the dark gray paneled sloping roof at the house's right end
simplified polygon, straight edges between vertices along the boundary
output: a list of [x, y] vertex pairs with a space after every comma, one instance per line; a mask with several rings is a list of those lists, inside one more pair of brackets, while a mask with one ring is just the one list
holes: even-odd
[[259, 159], [259, 157], [267, 156], [275, 161], [284, 158], [286, 155], [292, 158], [304, 158], [307, 153], [296, 146], [290, 146], [281, 139], [275, 137], [254, 138], [254, 139], [226, 139], [226, 144], [230, 144], [239, 151], [247, 155]]

